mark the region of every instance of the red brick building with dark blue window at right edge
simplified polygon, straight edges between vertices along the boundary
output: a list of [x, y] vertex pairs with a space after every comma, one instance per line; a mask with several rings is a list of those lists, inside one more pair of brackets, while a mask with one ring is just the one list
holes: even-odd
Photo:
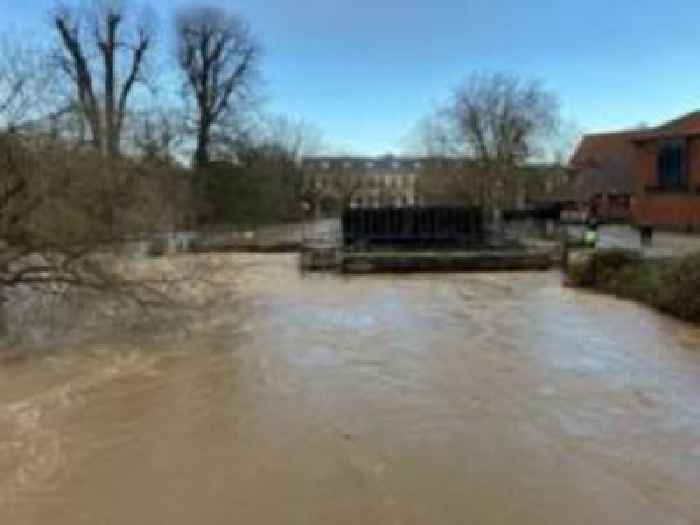
[[700, 230], [700, 111], [632, 138], [633, 220]]

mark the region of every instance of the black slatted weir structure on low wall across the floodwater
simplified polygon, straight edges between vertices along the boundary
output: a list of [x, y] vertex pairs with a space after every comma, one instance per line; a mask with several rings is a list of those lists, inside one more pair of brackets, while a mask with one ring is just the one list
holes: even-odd
[[310, 239], [306, 271], [341, 273], [544, 270], [549, 252], [507, 240], [480, 208], [346, 209], [335, 238]]

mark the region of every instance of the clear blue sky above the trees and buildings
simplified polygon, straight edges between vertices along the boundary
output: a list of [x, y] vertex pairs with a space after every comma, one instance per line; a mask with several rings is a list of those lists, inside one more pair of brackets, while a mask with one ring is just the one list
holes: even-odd
[[[150, 2], [164, 25], [182, 3]], [[474, 70], [541, 80], [583, 131], [700, 107], [698, 0], [209, 3], [238, 10], [262, 42], [267, 108], [314, 123], [350, 153], [401, 152], [416, 122]], [[3, 4], [0, 28], [48, 33], [52, 0]]]

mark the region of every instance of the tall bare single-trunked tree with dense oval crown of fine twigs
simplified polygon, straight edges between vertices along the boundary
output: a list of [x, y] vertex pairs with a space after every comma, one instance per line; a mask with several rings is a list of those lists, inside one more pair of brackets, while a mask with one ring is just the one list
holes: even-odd
[[177, 58], [197, 106], [194, 163], [206, 166], [214, 131], [250, 94], [259, 47], [248, 24], [217, 7], [190, 7], [176, 18]]

